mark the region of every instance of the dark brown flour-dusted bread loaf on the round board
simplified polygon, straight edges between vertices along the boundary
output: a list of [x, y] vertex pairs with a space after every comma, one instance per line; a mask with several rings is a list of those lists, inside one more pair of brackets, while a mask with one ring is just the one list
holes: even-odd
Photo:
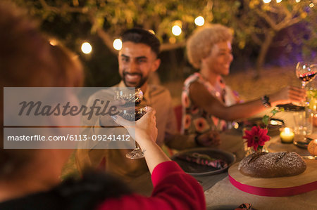
[[256, 178], [295, 176], [306, 170], [306, 162], [296, 152], [255, 152], [244, 157], [238, 169]]

